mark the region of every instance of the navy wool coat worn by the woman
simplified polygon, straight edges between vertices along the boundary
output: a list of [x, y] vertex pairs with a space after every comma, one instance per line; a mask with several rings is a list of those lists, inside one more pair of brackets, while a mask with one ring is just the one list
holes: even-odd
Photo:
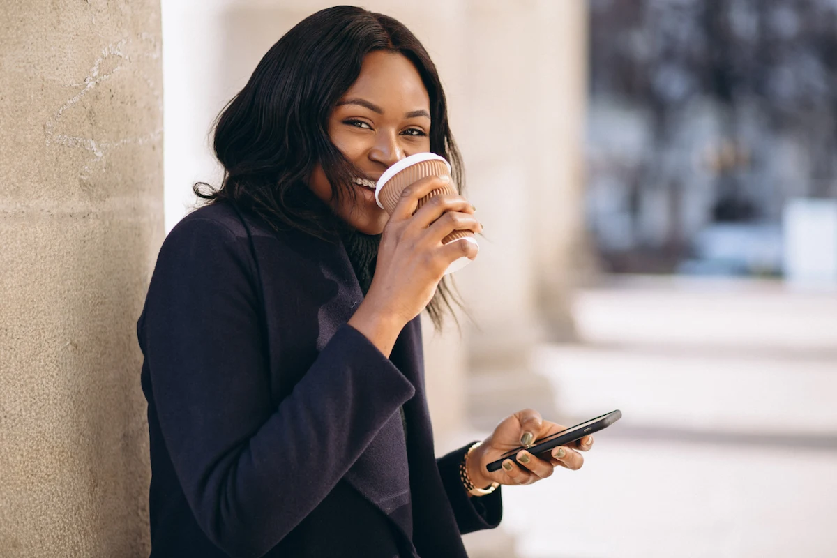
[[137, 323], [151, 556], [465, 556], [501, 495], [434, 456], [419, 319], [383, 356], [341, 243], [239, 215], [177, 224]]

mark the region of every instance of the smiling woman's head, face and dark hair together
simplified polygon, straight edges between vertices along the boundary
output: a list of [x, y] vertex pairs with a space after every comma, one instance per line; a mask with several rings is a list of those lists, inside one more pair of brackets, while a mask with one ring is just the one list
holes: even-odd
[[[214, 146], [223, 184], [198, 182], [198, 197], [235, 202], [277, 230], [342, 236], [359, 253], [377, 238], [347, 236], [347, 226], [377, 235], [387, 216], [355, 187], [357, 178], [380, 176], [387, 157], [433, 151], [450, 162], [454, 184], [465, 185], [433, 60], [397, 20], [350, 6], [306, 18], [264, 54], [218, 115]], [[341, 219], [311, 203], [311, 191]], [[439, 281], [427, 306], [437, 329], [445, 311], [462, 306], [449, 280]]]

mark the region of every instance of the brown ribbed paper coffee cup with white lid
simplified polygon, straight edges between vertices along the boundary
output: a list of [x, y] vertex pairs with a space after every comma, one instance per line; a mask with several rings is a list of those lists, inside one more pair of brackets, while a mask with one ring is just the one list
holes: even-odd
[[[450, 177], [450, 163], [445, 161], [443, 156], [436, 155], [435, 153], [416, 153], [415, 155], [408, 156], [396, 162], [393, 166], [390, 166], [377, 180], [375, 201], [379, 207], [382, 207], [392, 215], [404, 188], [413, 184], [413, 182], [418, 182], [422, 178], [443, 175]], [[454, 183], [448, 182], [447, 186], [438, 188], [421, 198], [419, 200], [419, 206], [416, 207], [416, 211], [419, 211], [431, 197], [438, 196], [439, 194], [455, 195], [458, 193]], [[473, 231], [470, 230], [454, 231], [444, 237], [442, 243], [447, 244], [458, 240], [477, 243]], [[479, 244], [477, 245], [479, 246]], [[458, 269], [462, 269], [470, 264], [470, 261], [465, 256], [456, 259], [449, 265], [444, 274], [451, 274]]]

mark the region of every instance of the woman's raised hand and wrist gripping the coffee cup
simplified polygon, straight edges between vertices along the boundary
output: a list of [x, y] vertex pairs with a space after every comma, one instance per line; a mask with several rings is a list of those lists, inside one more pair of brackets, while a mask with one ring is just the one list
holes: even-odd
[[455, 230], [482, 231], [474, 206], [457, 195], [439, 194], [416, 211], [419, 200], [449, 185], [449, 177], [427, 177], [404, 188], [383, 229], [375, 275], [349, 324], [385, 355], [408, 321], [433, 299], [445, 269], [465, 256], [475, 259], [475, 243], [442, 239]]

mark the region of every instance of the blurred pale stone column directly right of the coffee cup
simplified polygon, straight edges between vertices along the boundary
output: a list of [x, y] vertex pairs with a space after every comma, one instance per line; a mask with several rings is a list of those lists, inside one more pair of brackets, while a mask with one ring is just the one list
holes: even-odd
[[526, 407], [552, 416], [551, 387], [529, 363], [531, 348], [545, 338], [536, 289], [543, 218], [537, 161], [551, 154], [535, 120], [537, 103], [548, 95], [538, 90], [538, 74], [551, 69], [539, 64], [532, 28], [545, 3], [466, 4], [468, 103], [460, 143], [485, 238], [458, 279], [477, 322], [469, 330], [470, 416], [489, 428]]

